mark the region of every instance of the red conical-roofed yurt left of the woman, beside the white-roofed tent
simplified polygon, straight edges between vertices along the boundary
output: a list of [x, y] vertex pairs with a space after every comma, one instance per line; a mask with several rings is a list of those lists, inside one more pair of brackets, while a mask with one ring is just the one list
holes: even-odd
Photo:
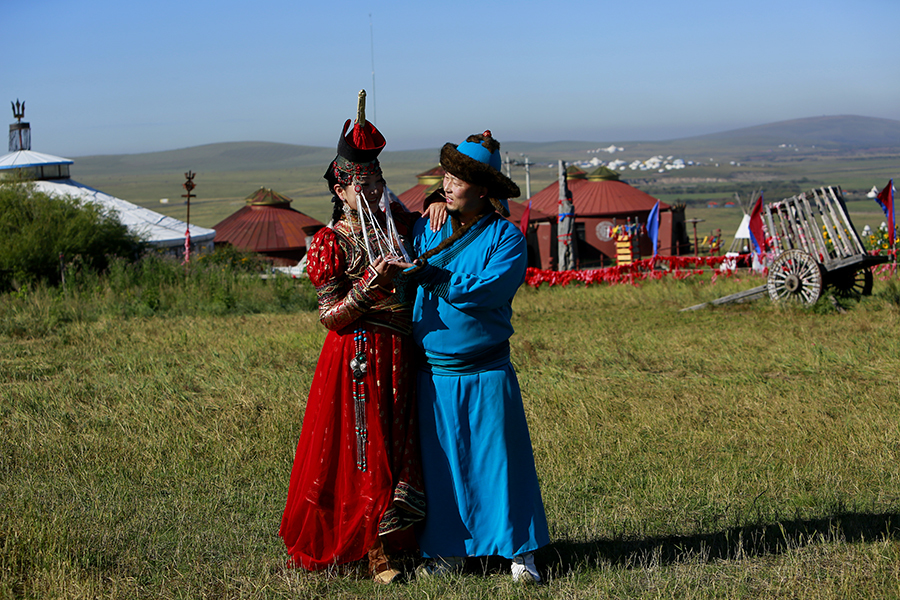
[[215, 226], [215, 243], [258, 252], [278, 267], [296, 265], [306, 254], [309, 238], [325, 226], [291, 208], [290, 198], [269, 188], [260, 188], [246, 202]]

